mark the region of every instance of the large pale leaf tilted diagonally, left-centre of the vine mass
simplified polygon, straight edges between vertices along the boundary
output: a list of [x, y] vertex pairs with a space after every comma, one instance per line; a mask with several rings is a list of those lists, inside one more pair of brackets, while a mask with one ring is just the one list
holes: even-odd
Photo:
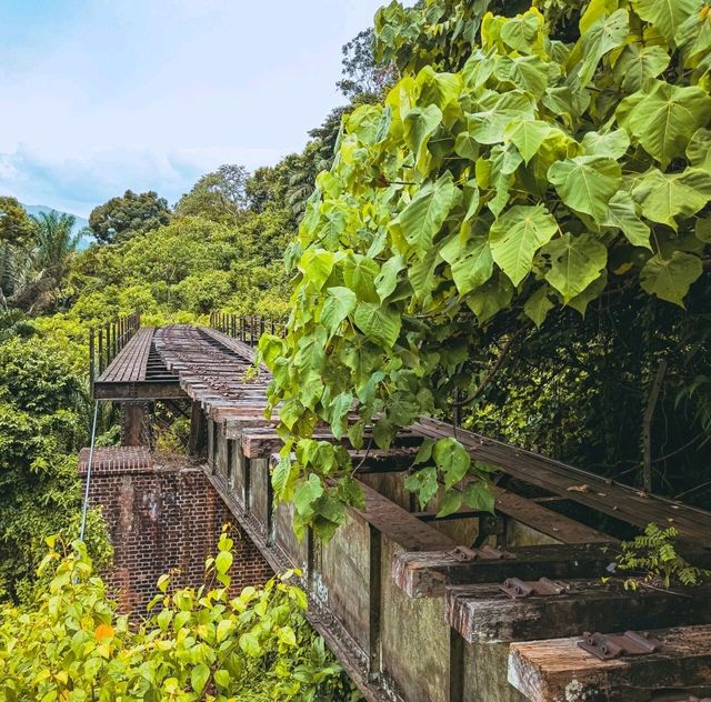
[[442, 228], [458, 194], [448, 171], [437, 182], [424, 185], [391, 227], [400, 231], [410, 245], [425, 251], [432, 245], [432, 239]]

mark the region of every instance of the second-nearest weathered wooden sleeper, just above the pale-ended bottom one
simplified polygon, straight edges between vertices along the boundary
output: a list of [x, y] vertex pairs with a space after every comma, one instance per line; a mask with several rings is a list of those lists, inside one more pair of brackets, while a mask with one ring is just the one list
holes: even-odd
[[[537, 579], [538, 580], [538, 579]], [[469, 643], [572, 636], [581, 631], [711, 624], [711, 586], [669, 591], [621, 580], [568, 580], [562, 594], [511, 599], [499, 585], [447, 588], [447, 621]]]

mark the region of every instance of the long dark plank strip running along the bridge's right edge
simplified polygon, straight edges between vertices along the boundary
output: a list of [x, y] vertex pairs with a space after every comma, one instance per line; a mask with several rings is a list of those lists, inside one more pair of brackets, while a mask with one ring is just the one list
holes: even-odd
[[[431, 419], [421, 420], [414, 429], [433, 438], [453, 434], [450, 425]], [[463, 429], [457, 430], [457, 437], [471, 450], [477, 460], [495, 465], [509, 475], [530, 484], [637, 526], [643, 528], [650, 522], [674, 524], [681, 540], [711, 543], [709, 512], [658, 495], [641, 493], [613, 480]]]

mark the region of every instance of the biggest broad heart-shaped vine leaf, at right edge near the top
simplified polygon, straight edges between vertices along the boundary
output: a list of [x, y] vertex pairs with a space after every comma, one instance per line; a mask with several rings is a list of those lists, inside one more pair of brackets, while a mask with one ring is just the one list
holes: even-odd
[[620, 103], [618, 120], [665, 169], [672, 159], [684, 156], [694, 132], [709, 121], [710, 112], [711, 98], [700, 88], [655, 80], [643, 98], [634, 94]]

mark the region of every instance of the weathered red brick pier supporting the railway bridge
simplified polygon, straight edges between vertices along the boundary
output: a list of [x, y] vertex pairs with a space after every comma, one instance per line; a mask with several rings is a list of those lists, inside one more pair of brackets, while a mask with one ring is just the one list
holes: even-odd
[[[84, 479], [88, 457], [84, 449], [79, 463]], [[173, 569], [180, 571], [173, 576], [177, 584], [199, 585], [226, 523], [234, 539], [234, 589], [261, 584], [273, 574], [199, 467], [156, 463], [140, 447], [98, 449], [89, 501], [101, 505], [111, 533], [114, 563], [104, 580], [122, 611], [142, 611], [157, 592], [158, 578]]]

